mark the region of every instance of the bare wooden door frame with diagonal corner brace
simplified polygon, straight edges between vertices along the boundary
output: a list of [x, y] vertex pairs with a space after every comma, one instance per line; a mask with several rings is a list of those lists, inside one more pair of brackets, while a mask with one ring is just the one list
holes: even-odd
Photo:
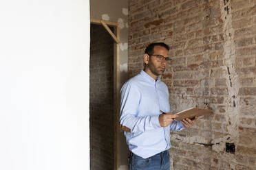
[[[114, 39], [114, 170], [118, 170], [120, 167], [120, 29], [118, 23], [110, 21], [91, 19], [91, 24], [103, 25]], [[114, 33], [111, 32], [108, 25], [114, 27]]]

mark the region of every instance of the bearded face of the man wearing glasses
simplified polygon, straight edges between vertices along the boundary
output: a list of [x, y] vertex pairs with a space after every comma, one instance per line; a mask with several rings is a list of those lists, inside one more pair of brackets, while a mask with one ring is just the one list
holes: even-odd
[[149, 57], [149, 63], [147, 64], [151, 73], [153, 73], [156, 76], [162, 75], [162, 73], [164, 73], [165, 67], [167, 66], [167, 61], [159, 60], [154, 55], [168, 57], [168, 50], [162, 46], [155, 46], [153, 48], [153, 55]]

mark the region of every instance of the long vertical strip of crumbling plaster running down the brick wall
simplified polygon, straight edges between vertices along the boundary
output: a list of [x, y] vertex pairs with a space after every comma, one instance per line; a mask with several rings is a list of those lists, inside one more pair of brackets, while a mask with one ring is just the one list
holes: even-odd
[[[226, 100], [226, 124], [228, 135], [220, 140], [220, 143], [237, 143], [238, 141], [238, 125], [239, 125], [239, 83], [238, 75], [235, 71], [235, 42], [234, 29], [232, 27], [232, 9], [231, 1], [220, 1], [220, 8], [222, 12], [222, 20], [224, 21], [224, 52], [223, 56], [226, 59], [223, 69], [226, 69], [226, 80], [228, 83], [228, 99]], [[229, 10], [226, 10], [226, 9]], [[217, 140], [217, 139], [215, 139]], [[217, 148], [215, 148], [217, 150]]]

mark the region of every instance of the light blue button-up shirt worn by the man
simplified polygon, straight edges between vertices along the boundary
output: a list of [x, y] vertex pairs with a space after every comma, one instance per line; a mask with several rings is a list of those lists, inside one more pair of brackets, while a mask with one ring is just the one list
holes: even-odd
[[182, 130], [180, 121], [161, 127], [158, 117], [170, 112], [167, 85], [154, 80], [145, 71], [128, 80], [121, 89], [120, 124], [131, 129], [125, 132], [130, 151], [149, 158], [171, 147], [170, 130]]

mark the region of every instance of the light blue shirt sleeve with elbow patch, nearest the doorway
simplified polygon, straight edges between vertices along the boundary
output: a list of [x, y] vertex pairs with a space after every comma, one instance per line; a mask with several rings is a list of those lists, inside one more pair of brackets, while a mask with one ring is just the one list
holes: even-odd
[[137, 117], [140, 104], [140, 90], [132, 82], [122, 86], [120, 98], [120, 124], [129, 127], [131, 132], [145, 132], [160, 128], [159, 115]]

